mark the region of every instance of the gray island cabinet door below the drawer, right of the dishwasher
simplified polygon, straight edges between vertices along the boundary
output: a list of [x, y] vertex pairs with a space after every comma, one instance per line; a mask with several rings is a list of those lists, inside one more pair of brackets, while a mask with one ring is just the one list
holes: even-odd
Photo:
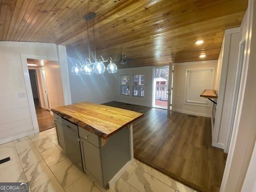
[[100, 148], [80, 138], [84, 171], [103, 184]]

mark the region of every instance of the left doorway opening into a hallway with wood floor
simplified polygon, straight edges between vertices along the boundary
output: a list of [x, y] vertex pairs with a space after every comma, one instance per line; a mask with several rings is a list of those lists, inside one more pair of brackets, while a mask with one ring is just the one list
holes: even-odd
[[64, 105], [60, 66], [56, 61], [29, 58], [27, 65], [39, 132], [42, 132], [54, 127], [50, 109]]

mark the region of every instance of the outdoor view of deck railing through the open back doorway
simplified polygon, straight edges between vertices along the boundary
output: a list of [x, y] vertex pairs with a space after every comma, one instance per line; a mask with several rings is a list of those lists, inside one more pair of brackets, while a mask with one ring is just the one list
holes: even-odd
[[154, 67], [153, 107], [167, 109], [169, 66]]

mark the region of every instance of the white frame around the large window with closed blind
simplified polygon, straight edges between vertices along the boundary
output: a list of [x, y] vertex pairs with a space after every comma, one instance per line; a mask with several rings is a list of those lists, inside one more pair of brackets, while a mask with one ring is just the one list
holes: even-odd
[[212, 70], [212, 82], [211, 82], [211, 88], [213, 89], [213, 85], [214, 85], [214, 76], [215, 76], [215, 68], [200, 68], [200, 69], [186, 69], [186, 73], [185, 73], [185, 82], [184, 82], [184, 95], [183, 95], [183, 104], [187, 104], [187, 105], [196, 105], [196, 106], [204, 106], [204, 107], [211, 107], [212, 106], [212, 102], [210, 102], [210, 100], [208, 100], [208, 104], [200, 104], [200, 103], [195, 103], [195, 102], [186, 102], [186, 91], [187, 91], [187, 78], [188, 78], [188, 71], [200, 71], [200, 70]]

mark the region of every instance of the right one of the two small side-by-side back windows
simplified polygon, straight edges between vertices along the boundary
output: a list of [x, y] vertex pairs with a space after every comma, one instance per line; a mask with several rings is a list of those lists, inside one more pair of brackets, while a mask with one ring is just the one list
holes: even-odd
[[144, 74], [132, 75], [132, 96], [144, 97]]

